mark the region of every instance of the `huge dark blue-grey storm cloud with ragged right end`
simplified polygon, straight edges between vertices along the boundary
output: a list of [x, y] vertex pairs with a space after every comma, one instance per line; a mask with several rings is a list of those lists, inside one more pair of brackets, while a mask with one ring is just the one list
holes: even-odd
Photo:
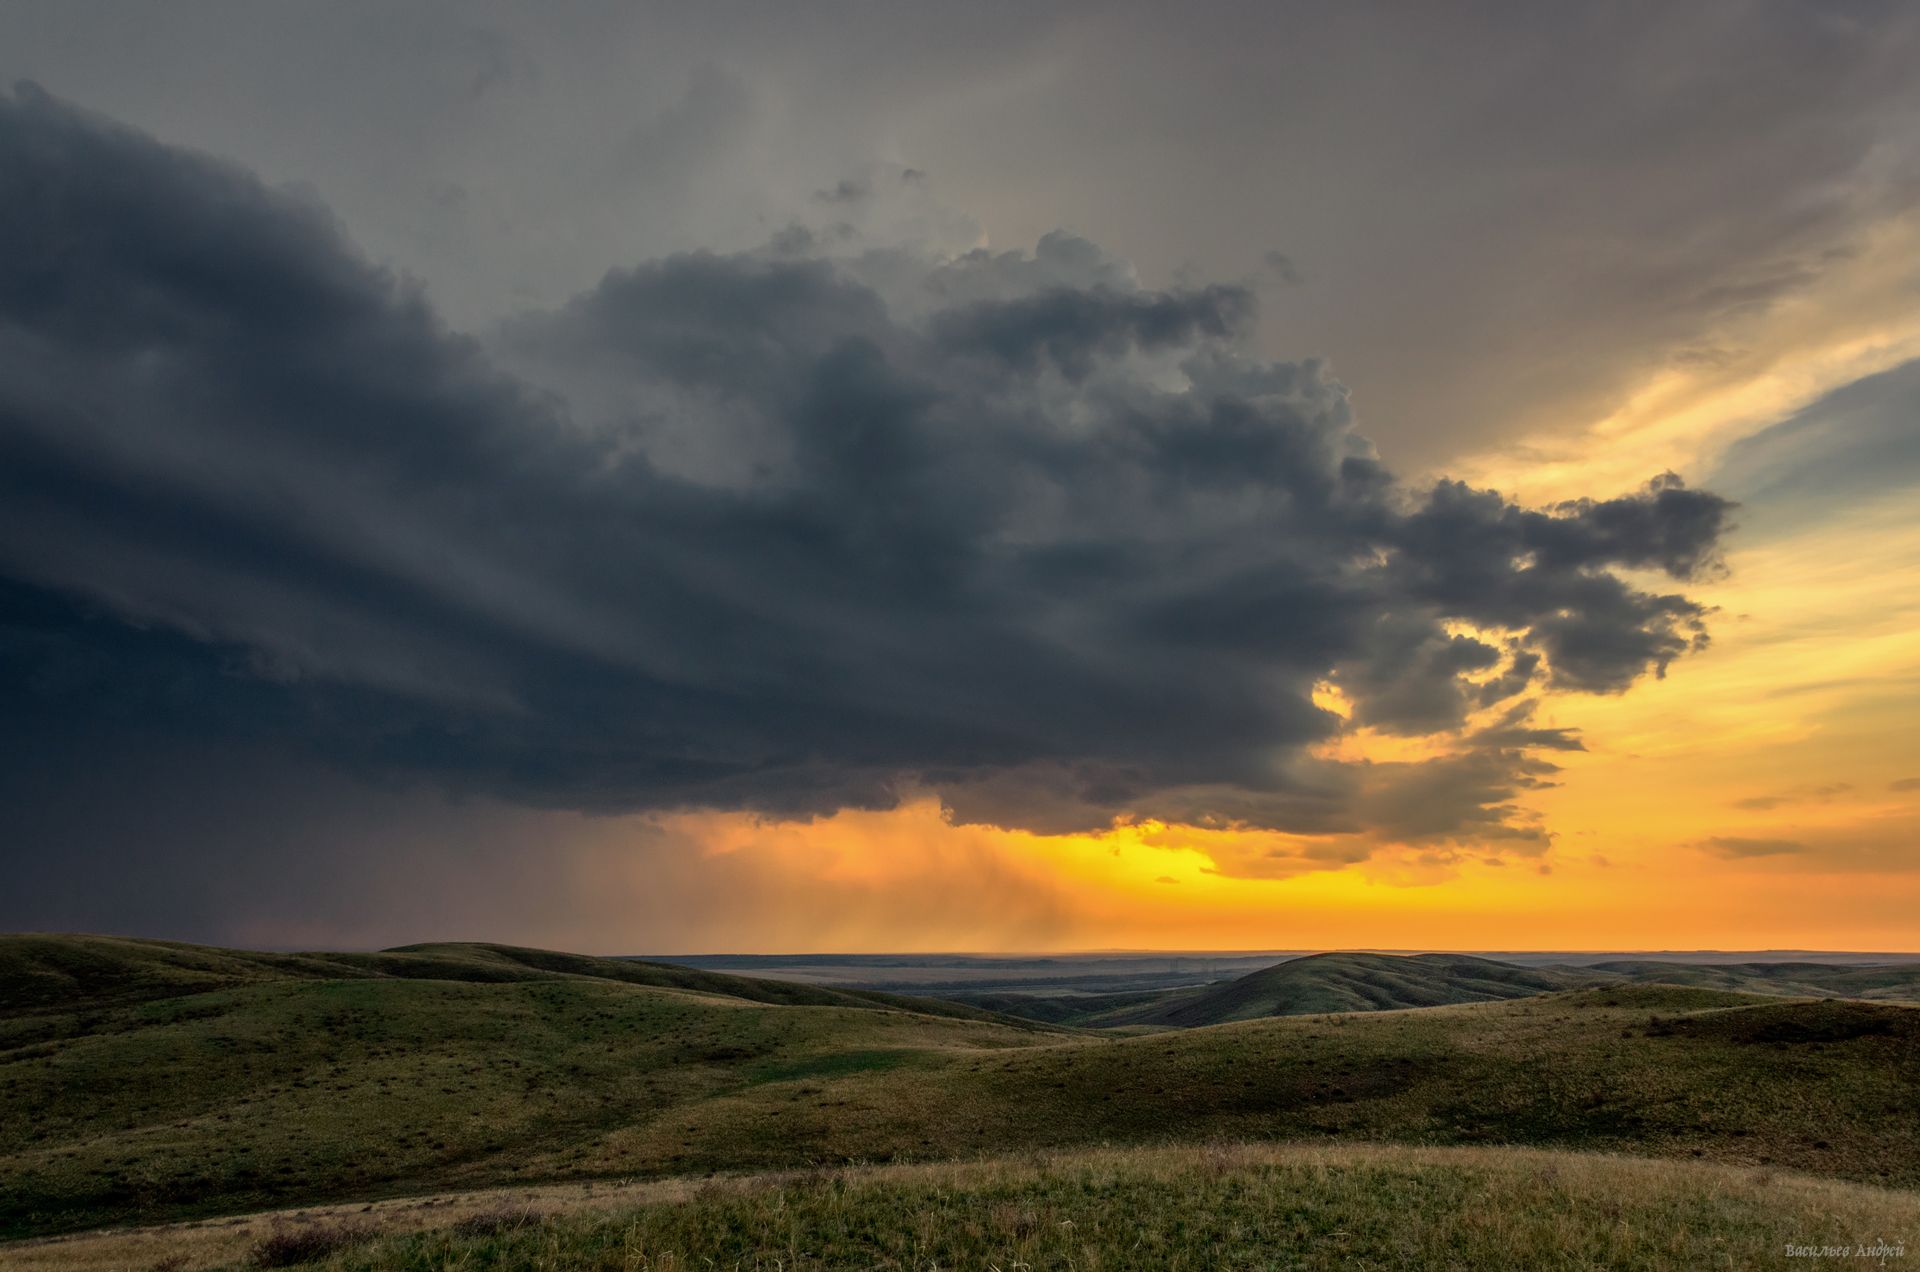
[[[1142, 290], [1071, 236], [918, 286], [899, 256], [670, 257], [490, 355], [313, 202], [38, 90], [0, 102], [0, 190], [21, 734], [582, 809], [931, 786], [1037, 830], [1538, 845], [1513, 799], [1578, 742], [1523, 696], [1705, 640], [1615, 571], [1711, 567], [1716, 496], [1404, 488], [1319, 363], [1246, 352], [1246, 292]], [[1327, 676], [1455, 751], [1315, 759]]]

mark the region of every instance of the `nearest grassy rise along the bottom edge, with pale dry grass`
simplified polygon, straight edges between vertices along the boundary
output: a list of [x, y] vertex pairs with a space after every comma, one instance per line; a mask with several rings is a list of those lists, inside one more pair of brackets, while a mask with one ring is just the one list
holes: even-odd
[[351, 1234], [323, 1266], [369, 1270], [1770, 1268], [1795, 1266], [1789, 1243], [1914, 1249], [1920, 1197], [1528, 1149], [1212, 1145], [468, 1195], [12, 1253], [188, 1272], [315, 1232]]

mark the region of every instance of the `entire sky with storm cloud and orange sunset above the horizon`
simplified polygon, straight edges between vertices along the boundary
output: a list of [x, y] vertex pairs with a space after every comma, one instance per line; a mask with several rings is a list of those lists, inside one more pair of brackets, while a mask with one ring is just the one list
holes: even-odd
[[1916, 63], [0, 4], [0, 930], [1916, 951]]

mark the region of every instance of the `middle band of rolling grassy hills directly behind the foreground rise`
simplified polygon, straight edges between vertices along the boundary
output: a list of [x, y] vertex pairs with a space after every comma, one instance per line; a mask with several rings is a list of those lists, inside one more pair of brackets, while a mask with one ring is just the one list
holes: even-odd
[[1538, 1145], [1920, 1186], [1920, 1009], [1887, 1003], [1615, 986], [1121, 1038], [486, 945], [4, 947], [27, 982], [8, 1001], [38, 1003], [0, 1016], [8, 1237], [1208, 1141]]

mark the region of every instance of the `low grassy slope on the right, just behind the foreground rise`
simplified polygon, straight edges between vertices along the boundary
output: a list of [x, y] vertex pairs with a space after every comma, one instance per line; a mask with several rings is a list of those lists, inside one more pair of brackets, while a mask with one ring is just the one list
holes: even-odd
[[1361, 1137], [1701, 1155], [1920, 1184], [1920, 1011], [1628, 986], [1027, 1047], [766, 1084], [620, 1130], [603, 1170]]

